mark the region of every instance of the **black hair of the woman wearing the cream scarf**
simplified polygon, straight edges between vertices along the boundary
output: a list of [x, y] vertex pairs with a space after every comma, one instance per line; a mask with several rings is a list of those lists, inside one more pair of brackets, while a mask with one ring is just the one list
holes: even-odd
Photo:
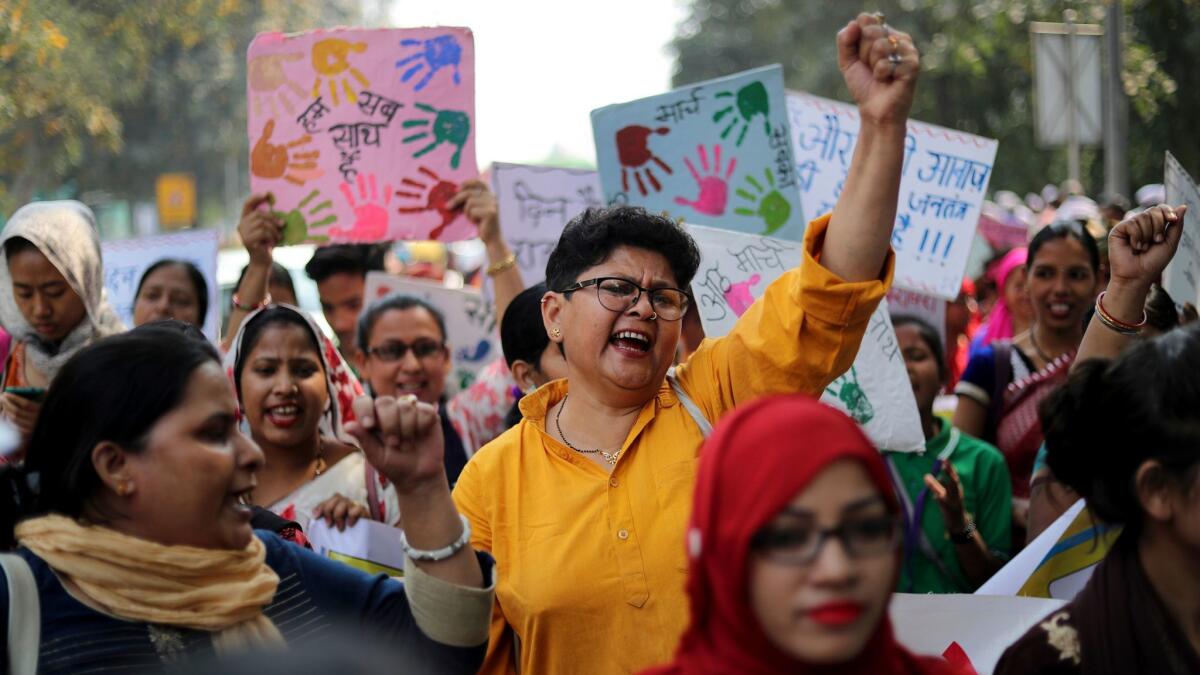
[[97, 340], [62, 366], [46, 393], [23, 465], [0, 468], [0, 546], [28, 516], [79, 518], [100, 489], [91, 450], [103, 441], [139, 453], [184, 399], [199, 366], [221, 363], [194, 327], [155, 322]]

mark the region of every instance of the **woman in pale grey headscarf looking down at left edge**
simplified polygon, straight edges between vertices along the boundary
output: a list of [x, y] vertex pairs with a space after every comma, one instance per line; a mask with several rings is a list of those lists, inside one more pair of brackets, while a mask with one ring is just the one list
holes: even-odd
[[28, 441], [62, 364], [125, 327], [106, 299], [96, 219], [84, 204], [25, 204], [0, 232], [0, 322], [14, 338], [0, 402]]

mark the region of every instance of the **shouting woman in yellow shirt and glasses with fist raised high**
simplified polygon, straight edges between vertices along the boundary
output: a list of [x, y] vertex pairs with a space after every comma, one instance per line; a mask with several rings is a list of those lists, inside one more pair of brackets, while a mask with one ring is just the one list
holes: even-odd
[[918, 55], [869, 14], [838, 46], [862, 115], [841, 198], [809, 225], [800, 267], [672, 378], [695, 243], [631, 208], [589, 210], [563, 232], [542, 318], [568, 378], [526, 396], [524, 419], [472, 459], [454, 492], [473, 544], [497, 561], [484, 673], [630, 673], [670, 659], [688, 621], [701, 426], [766, 394], [816, 395], [853, 362], [892, 276]]

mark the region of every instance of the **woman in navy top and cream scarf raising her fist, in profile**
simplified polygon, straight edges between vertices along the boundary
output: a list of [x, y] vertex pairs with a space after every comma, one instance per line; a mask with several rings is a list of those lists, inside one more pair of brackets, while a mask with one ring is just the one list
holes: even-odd
[[143, 671], [319, 639], [341, 621], [388, 635], [401, 669], [474, 673], [492, 563], [463, 545], [436, 412], [355, 407], [347, 430], [397, 486], [402, 544], [422, 558], [409, 560], [407, 589], [251, 528], [244, 496], [263, 454], [238, 431], [209, 344], [150, 324], [80, 351], [50, 387], [24, 466], [0, 470], [16, 496], [0, 501], [0, 545], [14, 537], [37, 584], [38, 671]]

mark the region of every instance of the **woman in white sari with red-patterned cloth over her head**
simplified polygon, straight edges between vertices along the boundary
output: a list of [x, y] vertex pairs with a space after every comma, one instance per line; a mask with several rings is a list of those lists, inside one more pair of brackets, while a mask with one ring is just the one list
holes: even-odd
[[226, 354], [250, 435], [266, 455], [251, 502], [302, 528], [314, 516], [353, 525], [370, 515], [400, 522], [395, 489], [353, 437], [346, 411], [362, 387], [306, 312], [287, 305], [242, 322]]

